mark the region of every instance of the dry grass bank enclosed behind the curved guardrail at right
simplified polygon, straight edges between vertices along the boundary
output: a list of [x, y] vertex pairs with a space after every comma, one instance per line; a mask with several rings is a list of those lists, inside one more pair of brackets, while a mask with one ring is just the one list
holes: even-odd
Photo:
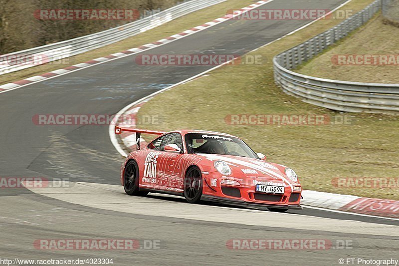
[[[301, 65], [296, 71], [304, 75], [328, 79], [398, 84], [398, 43], [399, 28], [386, 23], [382, 16], [377, 16], [355, 33], [332, 45], [326, 52]], [[366, 54], [391, 54], [395, 55], [398, 62], [393, 65], [340, 65], [332, 60], [337, 55]]]

